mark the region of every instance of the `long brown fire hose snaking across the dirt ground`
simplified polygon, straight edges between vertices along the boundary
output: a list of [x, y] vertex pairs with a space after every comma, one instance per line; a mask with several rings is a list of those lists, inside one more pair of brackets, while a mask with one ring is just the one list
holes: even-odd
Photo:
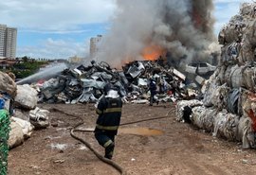
[[[119, 166], [117, 163], [115, 163], [114, 161], [112, 161], [110, 159], [104, 158], [96, 149], [93, 149], [92, 146], [88, 142], [86, 142], [84, 139], [82, 139], [81, 137], [77, 136], [74, 133], [75, 131], [87, 131], [87, 130], [78, 130], [77, 129], [78, 127], [80, 127], [84, 123], [81, 116], [77, 116], [77, 115], [74, 115], [74, 114], [67, 114], [67, 113], [64, 113], [63, 111], [61, 111], [59, 109], [56, 109], [56, 108], [52, 108], [52, 109], [50, 109], [50, 111], [66, 114], [66, 115], [73, 116], [73, 117], [76, 117], [76, 118], [80, 119], [81, 122], [79, 122], [78, 124], [76, 124], [72, 128], [72, 130], [70, 131], [70, 135], [73, 138], [75, 138], [76, 140], [79, 140], [80, 142], [82, 142], [82, 144], [84, 144], [88, 149], [90, 149], [103, 163], [108, 164], [109, 166], [113, 166], [115, 169], [117, 169], [119, 171], [119, 173], [121, 175], [127, 174], [127, 172], [125, 171], [125, 169], [123, 167]], [[173, 110], [170, 110], [165, 116], [148, 118], [148, 119], [142, 119], [142, 120], [137, 120], [137, 121], [133, 121], [133, 122], [127, 122], [127, 123], [121, 123], [120, 126], [131, 125], [131, 124], [140, 123], [140, 122], [144, 122], [144, 121], [150, 121], [150, 120], [167, 118], [168, 115], [170, 114], [170, 112], [173, 112]], [[90, 132], [92, 132], [92, 131], [90, 131]]]

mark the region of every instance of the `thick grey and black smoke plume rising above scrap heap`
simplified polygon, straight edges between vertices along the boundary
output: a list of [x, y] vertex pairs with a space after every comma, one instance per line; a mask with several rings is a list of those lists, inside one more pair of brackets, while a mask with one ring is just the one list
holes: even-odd
[[98, 61], [119, 66], [154, 52], [173, 62], [208, 57], [214, 39], [212, 0], [118, 0], [117, 5]]

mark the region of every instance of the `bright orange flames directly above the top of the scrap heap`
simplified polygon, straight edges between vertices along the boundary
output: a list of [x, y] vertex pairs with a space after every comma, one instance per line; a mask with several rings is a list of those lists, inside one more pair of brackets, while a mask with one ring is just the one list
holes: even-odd
[[164, 50], [160, 46], [149, 45], [143, 49], [141, 55], [146, 61], [155, 61], [163, 52]]

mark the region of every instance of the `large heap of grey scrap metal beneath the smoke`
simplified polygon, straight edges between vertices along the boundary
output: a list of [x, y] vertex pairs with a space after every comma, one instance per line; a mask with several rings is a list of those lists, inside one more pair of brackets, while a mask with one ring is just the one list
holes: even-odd
[[57, 78], [39, 84], [39, 102], [97, 102], [107, 82], [119, 89], [124, 102], [147, 102], [150, 78], [156, 80], [160, 101], [175, 101], [196, 95], [189, 85], [185, 86], [186, 77], [182, 73], [174, 68], [164, 68], [156, 61], [133, 61], [125, 64], [121, 71], [111, 68], [104, 61], [92, 61], [86, 67], [80, 65], [75, 69], [65, 69]]

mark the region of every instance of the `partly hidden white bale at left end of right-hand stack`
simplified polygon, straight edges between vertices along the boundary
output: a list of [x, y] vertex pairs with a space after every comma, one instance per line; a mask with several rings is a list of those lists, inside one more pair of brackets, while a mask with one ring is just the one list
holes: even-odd
[[184, 107], [194, 107], [203, 105], [202, 101], [192, 99], [192, 100], [181, 100], [176, 104], [176, 120], [183, 121]]

